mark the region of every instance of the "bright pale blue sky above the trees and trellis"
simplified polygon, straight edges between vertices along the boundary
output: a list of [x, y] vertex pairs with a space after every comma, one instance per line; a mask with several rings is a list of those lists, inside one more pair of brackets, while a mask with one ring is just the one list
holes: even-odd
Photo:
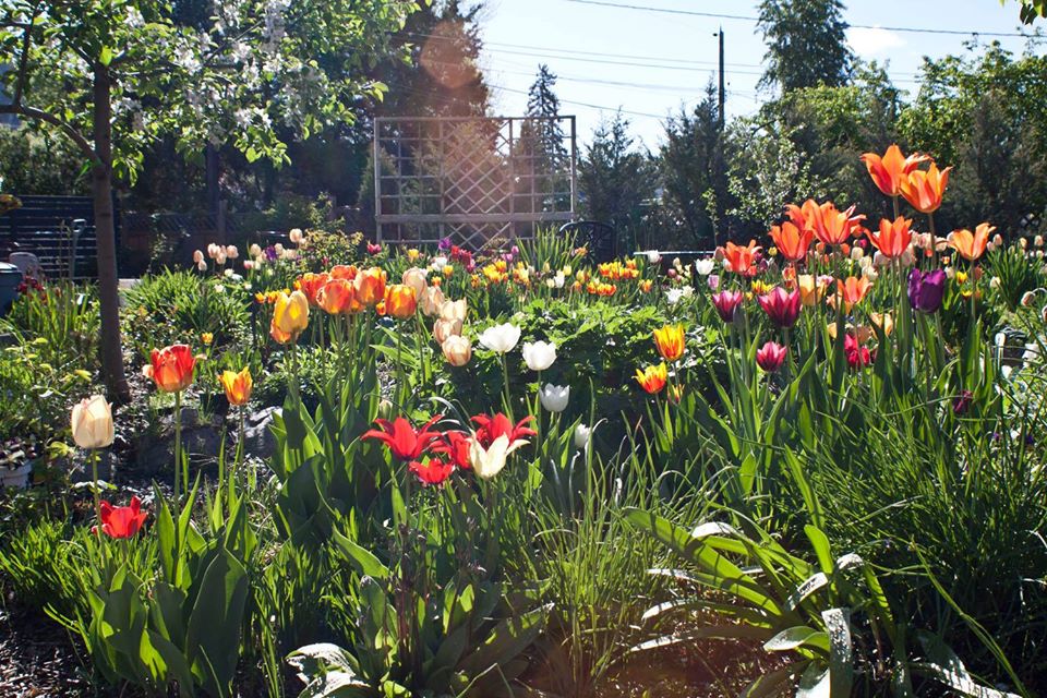
[[[481, 20], [485, 41], [483, 68], [494, 94], [494, 110], [505, 116], [524, 112], [526, 92], [540, 62], [559, 76], [556, 93], [564, 113], [578, 117], [585, 141], [601, 115], [621, 108], [633, 132], [648, 147], [657, 147], [662, 123], [681, 105], [701, 99], [715, 77], [718, 39], [723, 26], [727, 75], [727, 113], [747, 115], [767, 95], [757, 93], [762, 72], [762, 37], [748, 20], [670, 14], [622, 9], [609, 4], [755, 16], [753, 0], [486, 0]], [[1021, 37], [989, 37], [984, 33], [1028, 32], [1018, 20], [1019, 5], [1008, 0], [852, 0], [845, 19], [852, 25], [847, 40], [859, 57], [889, 61], [889, 73], [902, 89], [914, 91], [924, 56], [964, 51], [973, 34], [926, 34], [884, 27], [982, 32], [978, 40], [998, 38], [1014, 52], [1024, 50]], [[1044, 23], [1042, 22], [1040, 25]], [[1037, 49], [1043, 52], [1042, 47]]]

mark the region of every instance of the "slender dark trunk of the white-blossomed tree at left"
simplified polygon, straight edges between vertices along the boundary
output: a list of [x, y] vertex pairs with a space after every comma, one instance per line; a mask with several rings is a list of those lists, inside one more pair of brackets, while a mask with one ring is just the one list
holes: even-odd
[[123, 372], [120, 342], [120, 291], [117, 277], [117, 240], [112, 212], [112, 81], [109, 69], [95, 65], [94, 141], [98, 161], [92, 170], [95, 234], [98, 239], [98, 300], [101, 306], [101, 372], [109, 398], [127, 402], [131, 389]]

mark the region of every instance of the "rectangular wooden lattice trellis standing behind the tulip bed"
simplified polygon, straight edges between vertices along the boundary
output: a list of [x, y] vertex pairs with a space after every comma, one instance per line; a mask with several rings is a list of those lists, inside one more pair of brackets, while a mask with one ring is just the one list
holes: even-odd
[[381, 118], [380, 241], [479, 250], [575, 218], [575, 118]]

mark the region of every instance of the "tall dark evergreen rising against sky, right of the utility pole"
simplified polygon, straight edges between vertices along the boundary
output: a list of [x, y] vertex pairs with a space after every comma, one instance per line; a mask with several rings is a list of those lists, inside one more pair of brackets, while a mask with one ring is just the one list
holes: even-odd
[[760, 85], [782, 93], [799, 87], [838, 87], [851, 76], [841, 0], [761, 0], [757, 27], [763, 33], [767, 70]]

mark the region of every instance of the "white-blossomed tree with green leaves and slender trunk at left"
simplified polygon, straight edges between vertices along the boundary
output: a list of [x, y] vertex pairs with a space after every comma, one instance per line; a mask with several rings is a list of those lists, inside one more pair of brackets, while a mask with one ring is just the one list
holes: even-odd
[[7, 0], [0, 76], [13, 113], [70, 137], [92, 170], [103, 369], [128, 393], [120, 346], [113, 177], [133, 181], [145, 146], [172, 136], [186, 157], [232, 143], [288, 161], [277, 125], [302, 137], [353, 121], [390, 34], [428, 0]]

